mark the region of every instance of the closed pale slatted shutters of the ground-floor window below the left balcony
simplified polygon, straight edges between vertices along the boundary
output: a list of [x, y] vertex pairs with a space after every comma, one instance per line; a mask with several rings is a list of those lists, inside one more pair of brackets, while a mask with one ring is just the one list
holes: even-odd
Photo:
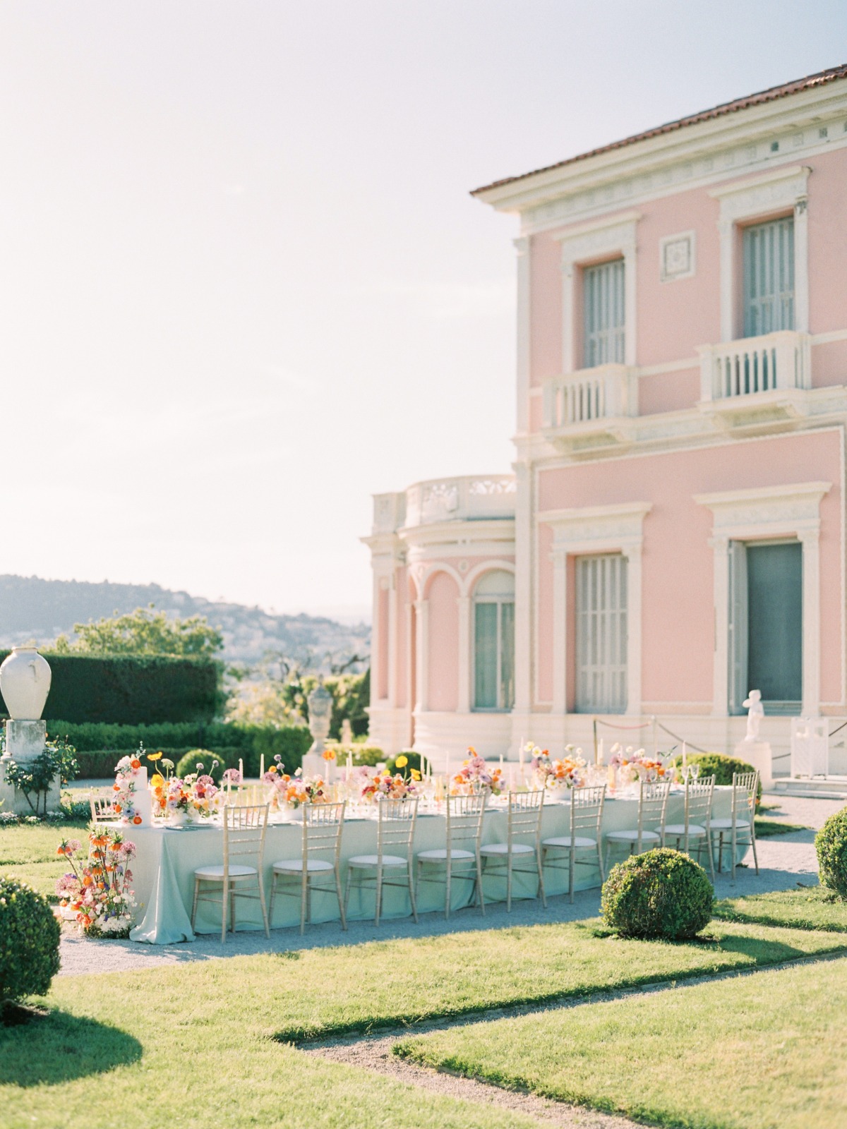
[[627, 559], [576, 559], [576, 711], [627, 708]]

